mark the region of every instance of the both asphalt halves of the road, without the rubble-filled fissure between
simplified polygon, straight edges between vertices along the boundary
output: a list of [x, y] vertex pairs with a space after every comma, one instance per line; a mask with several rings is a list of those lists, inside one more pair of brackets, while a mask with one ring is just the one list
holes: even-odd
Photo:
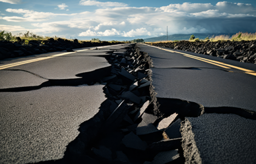
[[[79, 125], [106, 100], [104, 85], [84, 83], [97, 78], [91, 73], [95, 70], [99, 76], [108, 72], [105, 55], [125, 46], [1, 60], [0, 163], [63, 158]], [[172, 108], [170, 102], [177, 99], [205, 108], [203, 115], [185, 118], [196, 150], [184, 152], [188, 158], [212, 164], [256, 163], [256, 120], [244, 116], [256, 112], [255, 64], [145, 44], [140, 51], [153, 60], [152, 84], [160, 107]], [[244, 112], [237, 115], [239, 111]]]

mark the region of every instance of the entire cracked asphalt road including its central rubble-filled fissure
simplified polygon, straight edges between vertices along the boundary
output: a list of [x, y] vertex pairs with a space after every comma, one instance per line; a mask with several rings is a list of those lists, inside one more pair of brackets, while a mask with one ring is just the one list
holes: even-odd
[[2, 60], [0, 163], [256, 163], [255, 65], [177, 52]]

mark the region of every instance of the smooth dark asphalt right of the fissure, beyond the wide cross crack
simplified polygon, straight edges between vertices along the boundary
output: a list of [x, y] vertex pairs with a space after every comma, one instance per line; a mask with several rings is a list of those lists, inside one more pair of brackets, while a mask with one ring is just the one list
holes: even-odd
[[151, 46], [143, 45], [140, 51], [147, 52], [153, 60], [153, 86], [158, 98], [177, 98], [207, 107], [229, 106], [256, 111], [255, 64], [183, 52], [255, 71], [255, 75], [249, 75], [230, 66], [229, 69], [223, 68]]

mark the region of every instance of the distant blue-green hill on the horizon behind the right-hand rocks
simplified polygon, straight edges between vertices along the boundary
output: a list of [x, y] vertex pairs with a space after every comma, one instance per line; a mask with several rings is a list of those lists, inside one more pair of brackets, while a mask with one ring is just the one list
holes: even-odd
[[[217, 35], [229, 35], [230, 37], [232, 35], [235, 35], [236, 33], [202, 33], [202, 34], [174, 34], [174, 35], [168, 35], [168, 40], [189, 40], [191, 35], [194, 35], [195, 38], [199, 39], [205, 39], [206, 37], [212, 37], [217, 36]], [[150, 38], [145, 38], [143, 39], [145, 42], [156, 42], [156, 41], [163, 41], [166, 40], [166, 35], [160, 36], [160, 37], [150, 37]]]

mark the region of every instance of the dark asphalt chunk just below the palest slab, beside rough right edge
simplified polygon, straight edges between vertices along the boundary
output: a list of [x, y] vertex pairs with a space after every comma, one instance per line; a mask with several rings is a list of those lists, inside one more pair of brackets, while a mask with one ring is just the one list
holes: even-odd
[[171, 126], [169, 126], [164, 132], [163, 135], [167, 139], [172, 139], [172, 138], [180, 138], [181, 133], [180, 133], [180, 126], [182, 120], [179, 118], [177, 119]]

